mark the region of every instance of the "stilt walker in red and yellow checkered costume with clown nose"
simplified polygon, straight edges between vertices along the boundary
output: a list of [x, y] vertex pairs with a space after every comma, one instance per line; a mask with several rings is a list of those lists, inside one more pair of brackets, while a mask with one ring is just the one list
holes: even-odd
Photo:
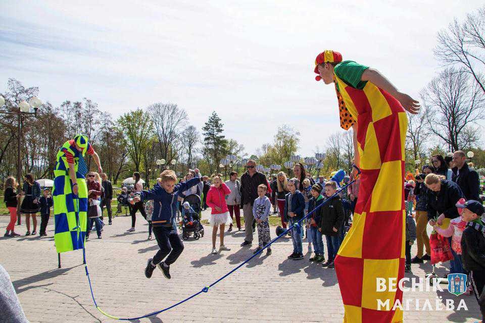
[[[403, 312], [392, 310], [402, 292], [377, 292], [376, 279], [404, 276], [405, 110], [417, 114], [418, 102], [376, 70], [343, 62], [336, 51], [317, 56], [315, 73], [317, 81], [335, 85], [341, 127], [354, 130], [355, 160], [362, 171], [353, 224], [335, 258], [344, 322], [402, 322]], [[390, 309], [379, 309], [378, 300], [389, 300]]]

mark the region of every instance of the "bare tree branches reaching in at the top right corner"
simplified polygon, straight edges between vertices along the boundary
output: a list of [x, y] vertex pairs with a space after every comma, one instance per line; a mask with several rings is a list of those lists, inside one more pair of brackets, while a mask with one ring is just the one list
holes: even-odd
[[485, 93], [480, 72], [485, 67], [485, 7], [468, 14], [463, 22], [455, 19], [447, 30], [440, 31], [434, 55], [446, 65], [457, 65], [472, 75]]

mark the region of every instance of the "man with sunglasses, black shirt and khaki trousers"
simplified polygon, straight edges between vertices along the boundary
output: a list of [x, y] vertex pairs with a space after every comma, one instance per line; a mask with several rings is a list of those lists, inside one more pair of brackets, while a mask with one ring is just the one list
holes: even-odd
[[247, 171], [241, 176], [241, 203], [243, 203], [243, 216], [246, 237], [241, 247], [250, 246], [253, 244], [253, 203], [258, 198], [258, 186], [264, 184], [268, 185], [266, 176], [256, 170], [256, 162], [248, 160], [246, 164]]

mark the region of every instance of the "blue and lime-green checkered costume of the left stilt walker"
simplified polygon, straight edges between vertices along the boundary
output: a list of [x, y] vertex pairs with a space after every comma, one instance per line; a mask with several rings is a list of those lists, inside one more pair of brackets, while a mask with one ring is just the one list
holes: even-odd
[[[90, 145], [88, 145], [90, 147]], [[74, 142], [66, 141], [57, 153], [57, 163], [54, 170], [54, 220], [57, 252], [66, 252], [82, 248], [86, 236], [87, 216], [87, 185], [84, 175], [87, 168], [84, 154], [88, 149], [78, 151]], [[78, 196], [72, 193], [69, 164], [66, 153], [74, 156], [74, 171], [76, 172]]]

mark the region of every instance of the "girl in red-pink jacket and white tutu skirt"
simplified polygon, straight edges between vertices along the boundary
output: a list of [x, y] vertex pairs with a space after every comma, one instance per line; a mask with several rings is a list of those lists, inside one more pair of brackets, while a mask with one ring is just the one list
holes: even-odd
[[212, 178], [212, 186], [207, 192], [206, 203], [212, 208], [211, 218], [209, 224], [212, 227], [212, 254], [217, 254], [216, 249], [216, 237], [217, 227], [220, 228], [219, 237], [221, 239], [221, 245], [219, 252], [223, 250], [231, 250], [224, 246], [224, 226], [232, 223], [229, 209], [226, 204], [226, 195], [231, 193], [231, 190], [227, 187], [221, 179], [222, 175], [218, 174]]

